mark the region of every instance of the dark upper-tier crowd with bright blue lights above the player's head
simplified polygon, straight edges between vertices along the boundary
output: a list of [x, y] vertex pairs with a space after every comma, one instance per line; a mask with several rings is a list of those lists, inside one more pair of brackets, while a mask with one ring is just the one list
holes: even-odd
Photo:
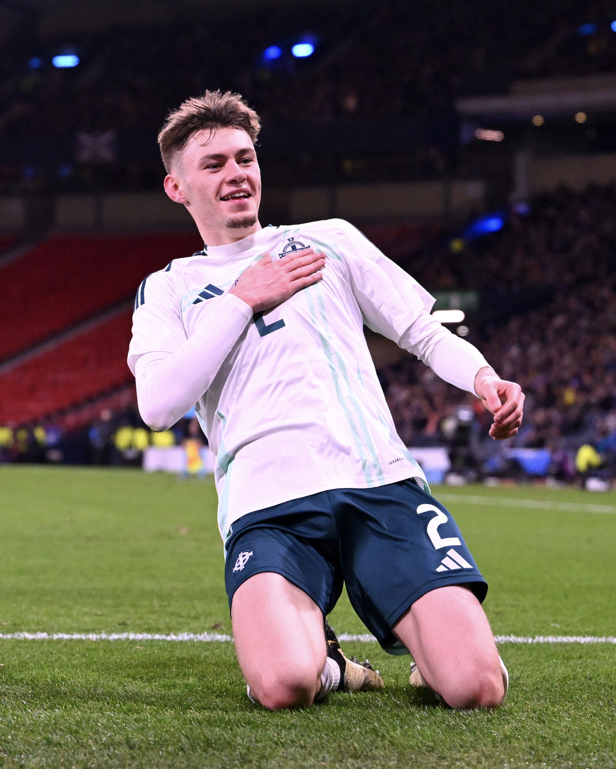
[[[277, 3], [56, 39], [28, 18], [0, 47], [0, 134], [156, 130], [204, 88], [239, 90], [266, 122], [420, 114], [506, 92], [516, 78], [613, 72], [612, 11], [607, 0], [377, 0], [331, 3], [326, 14]], [[584, 25], [593, 31], [580, 34]], [[304, 38], [314, 54], [293, 58]], [[264, 56], [272, 46], [278, 58]], [[54, 68], [59, 53], [79, 55], [79, 66]]]

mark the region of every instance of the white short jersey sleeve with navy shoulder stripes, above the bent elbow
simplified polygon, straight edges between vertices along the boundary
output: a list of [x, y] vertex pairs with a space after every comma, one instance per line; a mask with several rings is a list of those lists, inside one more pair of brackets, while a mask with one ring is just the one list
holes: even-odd
[[135, 298], [129, 368], [146, 352], [175, 352], [186, 341], [179, 298], [167, 275], [155, 272], [145, 278]]

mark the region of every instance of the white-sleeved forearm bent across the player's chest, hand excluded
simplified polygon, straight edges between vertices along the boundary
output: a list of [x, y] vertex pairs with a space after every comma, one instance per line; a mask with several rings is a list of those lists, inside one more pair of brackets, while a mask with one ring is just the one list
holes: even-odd
[[175, 352], [148, 352], [136, 362], [139, 412], [152, 430], [166, 430], [212, 384], [226, 356], [252, 318], [236, 298], [223, 298], [206, 322]]

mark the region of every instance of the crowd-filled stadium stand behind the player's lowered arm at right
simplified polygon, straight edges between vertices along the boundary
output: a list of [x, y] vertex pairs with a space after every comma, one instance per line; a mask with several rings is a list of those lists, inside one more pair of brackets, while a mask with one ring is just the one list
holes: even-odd
[[[441, 240], [418, 255], [400, 254], [407, 270], [433, 290], [481, 291], [484, 315], [480, 308], [469, 338], [527, 394], [524, 425], [510, 448], [549, 449], [551, 471], [565, 478], [575, 474], [581, 445], [601, 448], [606, 471], [616, 458], [614, 208], [613, 186], [581, 194], [561, 189], [534, 201], [527, 215], [512, 211], [502, 231], [461, 252]], [[529, 296], [530, 303], [511, 301]], [[508, 301], [500, 318], [495, 301]], [[487, 438], [490, 418], [472, 396], [411, 358], [380, 375], [407, 445], [455, 444], [464, 426], [461, 410], [470, 415], [466, 442], [473, 444], [466, 469], [497, 471], [490, 455], [502, 447]]]

